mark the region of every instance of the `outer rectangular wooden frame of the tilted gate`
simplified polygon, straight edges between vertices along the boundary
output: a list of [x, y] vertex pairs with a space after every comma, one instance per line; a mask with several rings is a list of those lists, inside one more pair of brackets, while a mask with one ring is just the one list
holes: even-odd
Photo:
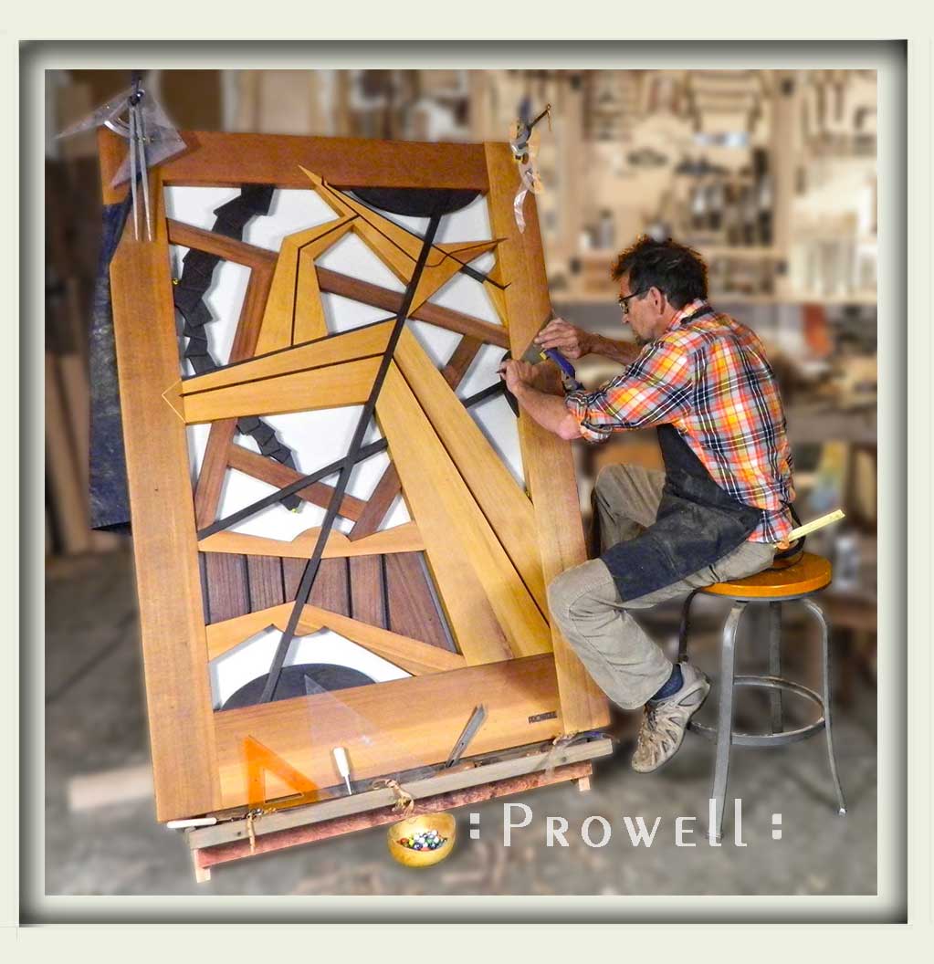
[[[303, 774], [328, 786], [330, 747], [340, 734], [308, 746], [309, 711], [325, 720], [324, 697], [307, 696], [215, 713], [207, 673], [195, 507], [185, 424], [178, 415], [179, 357], [170, 273], [164, 186], [272, 184], [307, 188], [302, 167], [336, 188], [434, 187], [487, 196], [491, 227], [501, 239], [498, 281], [505, 288], [510, 349], [519, 357], [549, 316], [547, 280], [534, 199], [526, 201], [520, 232], [513, 201], [520, 181], [505, 144], [448, 145], [182, 132], [190, 149], [150, 173], [154, 240], [123, 232], [111, 263], [120, 400], [132, 511], [136, 577], [146, 674], [156, 816], [194, 817], [245, 802], [242, 742], [254, 736]], [[111, 187], [125, 141], [99, 135], [105, 203], [125, 196]], [[574, 464], [562, 442], [520, 416], [526, 488], [547, 584], [586, 558]], [[600, 689], [559, 631], [552, 654], [513, 658], [450, 672], [341, 691], [351, 709], [365, 710], [379, 737], [355, 755], [356, 779], [443, 761], [473, 707], [487, 723], [471, 754], [491, 753], [608, 722]], [[422, 725], [399, 722], [399, 708], [428, 705]]]

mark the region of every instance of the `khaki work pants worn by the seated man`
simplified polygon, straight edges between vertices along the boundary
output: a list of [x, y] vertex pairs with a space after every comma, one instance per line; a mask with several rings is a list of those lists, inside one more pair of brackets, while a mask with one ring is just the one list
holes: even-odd
[[[654, 521], [665, 473], [638, 466], [601, 469], [594, 490], [600, 551], [632, 539]], [[767, 569], [775, 547], [745, 542], [712, 566], [638, 599], [623, 602], [606, 564], [591, 559], [551, 581], [548, 606], [600, 689], [619, 707], [641, 707], [671, 676], [672, 662], [630, 615], [713, 582]]]

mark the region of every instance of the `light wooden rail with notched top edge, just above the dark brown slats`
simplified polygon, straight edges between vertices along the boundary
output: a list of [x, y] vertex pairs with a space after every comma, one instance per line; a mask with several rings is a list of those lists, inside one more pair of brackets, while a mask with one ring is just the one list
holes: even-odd
[[[244, 555], [279, 555], [308, 559], [314, 551], [320, 531], [320, 527], [306, 529], [290, 543], [241, 532], [215, 532], [214, 535], [202, 539], [198, 548], [202, 552], [240, 552]], [[418, 526], [414, 522], [404, 522], [353, 542], [343, 532], [332, 530], [325, 543], [323, 557], [335, 559], [353, 555], [380, 555], [384, 552], [417, 552], [424, 548]]]

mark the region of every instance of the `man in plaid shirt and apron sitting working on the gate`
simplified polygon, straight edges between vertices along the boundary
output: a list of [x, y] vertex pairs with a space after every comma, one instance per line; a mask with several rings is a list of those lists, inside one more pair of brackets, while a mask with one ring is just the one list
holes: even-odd
[[707, 268], [672, 240], [643, 237], [616, 260], [623, 322], [636, 343], [555, 319], [536, 341], [570, 359], [627, 364], [597, 391], [536, 388], [535, 367], [502, 365], [521, 408], [562, 439], [604, 442], [657, 426], [665, 470], [610, 466], [594, 494], [600, 557], [548, 586], [551, 614], [588, 672], [624, 710], [645, 705], [632, 768], [678, 751], [710, 684], [672, 664], [629, 614], [767, 569], [791, 531], [791, 453], [775, 376], [759, 338], [707, 304]]

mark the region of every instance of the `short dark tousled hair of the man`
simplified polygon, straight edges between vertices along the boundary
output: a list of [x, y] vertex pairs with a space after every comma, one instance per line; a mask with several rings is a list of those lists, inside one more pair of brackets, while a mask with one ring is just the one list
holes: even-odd
[[610, 274], [619, 281], [629, 276], [629, 291], [657, 288], [673, 308], [707, 298], [707, 265], [696, 251], [677, 241], [654, 241], [643, 234], [621, 252]]

